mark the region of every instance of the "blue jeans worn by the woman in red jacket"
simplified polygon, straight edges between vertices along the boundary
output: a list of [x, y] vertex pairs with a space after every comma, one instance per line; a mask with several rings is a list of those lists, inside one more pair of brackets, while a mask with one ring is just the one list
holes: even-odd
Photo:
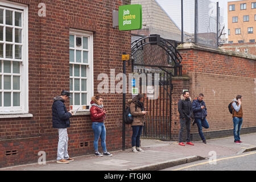
[[94, 133], [94, 150], [98, 151], [98, 140], [101, 138], [101, 147], [103, 152], [106, 152], [106, 128], [104, 122], [93, 122], [92, 129]]

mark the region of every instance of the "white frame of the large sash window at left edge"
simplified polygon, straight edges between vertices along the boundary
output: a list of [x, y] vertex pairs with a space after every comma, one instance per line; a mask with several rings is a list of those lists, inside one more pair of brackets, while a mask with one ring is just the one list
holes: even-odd
[[[11, 89], [6, 90], [7, 93], [11, 93], [11, 106], [4, 106], [4, 93], [5, 93], [5, 89], [0, 88], [1, 89], [1, 93], [2, 93], [2, 105], [0, 107], [0, 114], [28, 114], [28, 6], [27, 5], [23, 5], [20, 3], [16, 3], [16, 2], [10, 2], [10, 1], [2, 1], [1, 2], [1, 9], [5, 9], [3, 11], [3, 23], [0, 24], [0, 26], [4, 26], [4, 27], [10, 27], [13, 28], [13, 42], [6, 42], [6, 40], [4, 39], [4, 37], [6, 36], [6, 28], [3, 28], [3, 40], [1, 41], [1, 43], [6, 44], [12, 44], [13, 45], [13, 58], [12, 59], [7, 59], [4, 58], [5, 57], [5, 46], [3, 46], [3, 57], [0, 59], [1, 63], [2, 63], [2, 67], [3, 67], [3, 62], [4, 61], [10, 61], [11, 63], [11, 73], [10, 74], [6, 74], [3, 73], [1, 71], [1, 76], [2, 76], [2, 88], [4, 86], [4, 78], [3, 75], [10, 75], [11, 76], [11, 80], [13, 80], [13, 76], [20, 76], [20, 82], [19, 82], [19, 90], [15, 90], [16, 92], [19, 92], [19, 106], [12, 106], [13, 105], [13, 84], [11, 81]], [[13, 25], [9, 26], [8, 24], [5, 24], [5, 12], [6, 10], [10, 10], [13, 11]], [[18, 26], [15, 26], [15, 12], [18, 13], [22, 13], [22, 26], [21, 28]], [[15, 28], [20, 28], [22, 29], [22, 43], [16, 43], [15, 42]], [[14, 45], [18, 45], [18, 46], [22, 46], [22, 59], [15, 59], [15, 46]], [[18, 62], [19, 64], [19, 73], [12, 73], [12, 68], [13, 68], [13, 63]], [[3, 68], [2, 68], [3, 70]]]

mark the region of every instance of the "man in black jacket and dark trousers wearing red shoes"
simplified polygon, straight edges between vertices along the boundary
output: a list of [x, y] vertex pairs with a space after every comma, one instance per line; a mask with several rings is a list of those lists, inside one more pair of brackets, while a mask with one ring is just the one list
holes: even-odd
[[179, 145], [185, 146], [182, 142], [183, 137], [182, 134], [187, 129], [187, 143], [190, 145], [194, 145], [190, 142], [190, 123], [192, 118], [192, 106], [191, 106], [191, 98], [189, 97], [189, 92], [184, 91], [181, 95], [181, 100], [178, 102], [178, 111], [180, 114], [180, 133], [179, 133]]

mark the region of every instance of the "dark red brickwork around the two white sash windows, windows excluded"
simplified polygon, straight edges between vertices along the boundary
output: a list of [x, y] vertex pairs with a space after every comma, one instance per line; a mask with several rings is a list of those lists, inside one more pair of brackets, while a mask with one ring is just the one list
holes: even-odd
[[[28, 104], [33, 117], [0, 119], [0, 167], [37, 162], [39, 151], [46, 152], [47, 160], [56, 159], [58, 133], [52, 128], [51, 106], [53, 97], [69, 90], [69, 28], [93, 32], [94, 94], [99, 73], [122, 72], [121, 55], [130, 53], [131, 44], [130, 31], [112, 27], [112, 11], [130, 1], [14, 2], [28, 5]], [[46, 17], [38, 16], [39, 3], [46, 4]], [[127, 66], [126, 72], [131, 68]], [[103, 96], [109, 111], [106, 144], [109, 151], [121, 150], [122, 94]], [[130, 147], [129, 126], [126, 131], [126, 146]], [[68, 135], [69, 155], [93, 154], [89, 115], [72, 117]]]

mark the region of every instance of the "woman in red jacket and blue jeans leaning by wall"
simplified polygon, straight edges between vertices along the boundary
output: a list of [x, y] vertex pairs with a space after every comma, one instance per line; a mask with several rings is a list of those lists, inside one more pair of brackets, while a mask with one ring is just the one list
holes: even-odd
[[[94, 133], [94, 150], [96, 156], [112, 156], [106, 150], [106, 128], [104, 125], [104, 119], [106, 119], [106, 110], [103, 108], [103, 98], [101, 96], [93, 96], [90, 102], [90, 119], [92, 120], [92, 129]], [[101, 147], [103, 155], [98, 152], [98, 140], [101, 138]]]

